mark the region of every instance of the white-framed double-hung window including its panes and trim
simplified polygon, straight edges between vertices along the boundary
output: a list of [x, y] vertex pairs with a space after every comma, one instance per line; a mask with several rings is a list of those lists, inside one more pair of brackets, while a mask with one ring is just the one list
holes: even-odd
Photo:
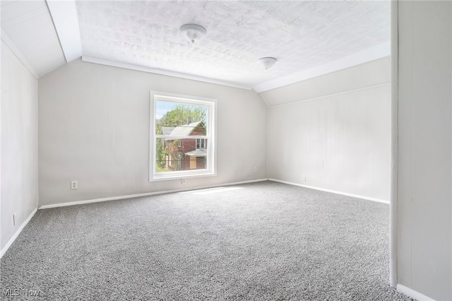
[[216, 100], [150, 92], [150, 181], [216, 175]]

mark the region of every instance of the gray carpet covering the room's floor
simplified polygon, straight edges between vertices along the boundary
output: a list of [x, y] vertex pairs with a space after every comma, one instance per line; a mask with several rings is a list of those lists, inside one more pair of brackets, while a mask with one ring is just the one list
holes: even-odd
[[37, 211], [0, 281], [4, 299], [412, 300], [388, 244], [387, 204], [258, 182]]

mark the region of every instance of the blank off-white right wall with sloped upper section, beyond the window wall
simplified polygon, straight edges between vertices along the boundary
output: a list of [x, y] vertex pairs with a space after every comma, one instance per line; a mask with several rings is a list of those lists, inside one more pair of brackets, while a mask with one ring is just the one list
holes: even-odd
[[[276, 104], [269, 109], [268, 177], [388, 201], [389, 74], [386, 58], [265, 95], [267, 102]], [[353, 89], [323, 94], [338, 81], [343, 83], [338, 89]], [[319, 92], [304, 89], [312, 85]], [[321, 96], [306, 99], [308, 95]], [[302, 101], [295, 101], [297, 96]], [[281, 105], [287, 100], [295, 102]]]

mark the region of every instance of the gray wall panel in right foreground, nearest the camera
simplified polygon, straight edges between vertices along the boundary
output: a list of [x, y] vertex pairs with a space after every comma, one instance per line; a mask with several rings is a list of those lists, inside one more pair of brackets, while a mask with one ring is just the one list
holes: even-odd
[[398, 283], [452, 300], [451, 1], [398, 3]]

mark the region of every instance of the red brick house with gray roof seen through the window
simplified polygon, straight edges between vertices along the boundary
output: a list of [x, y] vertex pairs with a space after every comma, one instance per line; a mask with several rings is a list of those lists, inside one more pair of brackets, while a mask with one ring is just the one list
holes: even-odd
[[183, 126], [162, 126], [162, 134], [178, 138], [165, 138], [167, 170], [200, 170], [206, 168], [207, 139], [180, 138], [183, 136], [205, 136], [203, 122]]

